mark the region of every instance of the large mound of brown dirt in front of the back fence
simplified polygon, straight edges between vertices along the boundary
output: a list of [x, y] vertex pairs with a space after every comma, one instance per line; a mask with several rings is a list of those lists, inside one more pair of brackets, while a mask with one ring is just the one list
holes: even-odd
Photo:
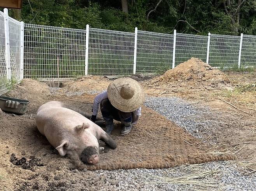
[[211, 67], [197, 58], [191, 58], [187, 62], [170, 69], [160, 77], [149, 82], [151, 85], [168, 86], [192, 86], [204, 88], [231, 87], [229, 78], [218, 69]]

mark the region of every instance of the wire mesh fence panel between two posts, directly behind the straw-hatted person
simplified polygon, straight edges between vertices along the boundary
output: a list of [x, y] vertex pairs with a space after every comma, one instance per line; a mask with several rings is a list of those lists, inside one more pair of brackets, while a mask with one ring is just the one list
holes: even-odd
[[134, 33], [89, 28], [88, 74], [132, 74], [134, 36]]

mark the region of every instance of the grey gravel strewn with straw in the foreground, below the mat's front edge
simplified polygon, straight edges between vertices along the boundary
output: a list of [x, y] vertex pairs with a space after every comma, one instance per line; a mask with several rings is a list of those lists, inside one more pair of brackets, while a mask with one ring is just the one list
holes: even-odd
[[[244, 170], [244, 172], [242, 172]], [[207, 177], [198, 178], [209, 172]], [[231, 162], [210, 162], [196, 165], [183, 165], [171, 169], [131, 169], [97, 170], [96, 174], [106, 177], [105, 183], [112, 184], [114, 190], [256, 190], [256, 176], [245, 176], [247, 170]], [[172, 178], [177, 178], [176, 180]], [[191, 177], [191, 178], [188, 178]], [[194, 177], [194, 178], [193, 178]], [[167, 178], [165, 180], [165, 178]], [[187, 181], [186, 181], [187, 179]], [[179, 180], [183, 182], [178, 182]], [[174, 181], [175, 183], [169, 183]], [[205, 185], [189, 184], [199, 182]], [[113, 183], [114, 182], [114, 183]], [[211, 185], [210, 185], [211, 184]], [[99, 187], [100, 188], [100, 187]]]

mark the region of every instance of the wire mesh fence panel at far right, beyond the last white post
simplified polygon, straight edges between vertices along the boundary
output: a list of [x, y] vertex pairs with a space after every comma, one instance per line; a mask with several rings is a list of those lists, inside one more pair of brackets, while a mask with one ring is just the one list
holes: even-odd
[[243, 36], [240, 67], [256, 67], [256, 36]]

